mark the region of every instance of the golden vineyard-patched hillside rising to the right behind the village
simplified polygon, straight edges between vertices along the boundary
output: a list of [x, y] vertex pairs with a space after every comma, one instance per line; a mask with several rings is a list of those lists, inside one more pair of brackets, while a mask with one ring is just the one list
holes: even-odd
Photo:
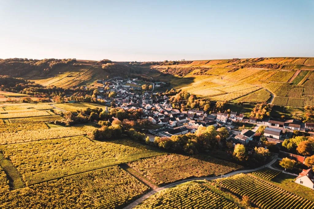
[[215, 101], [314, 106], [314, 58], [183, 61], [150, 68], [148, 76]]

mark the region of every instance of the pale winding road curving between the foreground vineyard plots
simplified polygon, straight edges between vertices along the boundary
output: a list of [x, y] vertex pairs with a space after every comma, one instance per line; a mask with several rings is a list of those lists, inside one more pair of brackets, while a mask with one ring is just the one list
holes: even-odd
[[[269, 167], [271, 166], [273, 163], [275, 163], [277, 160], [277, 156], [275, 156], [275, 158], [267, 163], [265, 165], [265, 167]], [[256, 169], [250, 169], [250, 170], [239, 170], [239, 171], [234, 171], [234, 172], [231, 172], [229, 174], [225, 174], [224, 177], [229, 177], [229, 176], [232, 176], [232, 175], [235, 175], [235, 174], [241, 174], [241, 173], [251, 173], [251, 172], [254, 172], [254, 171], [257, 171], [257, 170], [260, 170], [260, 169], [263, 169], [264, 166], [261, 166], [259, 168], [256, 168]], [[135, 200], [134, 202], [132, 202], [131, 204], [129, 204], [128, 206], [124, 207], [123, 209], [131, 209], [131, 208], [134, 208], [136, 206], [138, 206], [140, 203], [142, 203], [144, 200], [146, 200], [147, 198], [149, 198], [150, 196], [156, 194], [157, 192], [161, 191], [161, 190], [164, 190], [164, 189], [167, 189], [167, 188], [170, 188], [170, 187], [173, 187], [173, 186], [176, 186], [176, 185], [179, 185], [179, 184], [182, 184], [182, 183], [185, 183], [185, 182], [188, 182], [188, 181], [194, 181], [194, 180], [215, 180], [215, 179], [219, 179], [221, 178], [221, 176], [216, 176], [216, 177], [210, 177], [210, 178], [194, 178], [194, 179], [187, 179], [187, 180], [182, 180], [182, 181], [178, 181], [178, 182], [175, 182], [175, 183], [172, 183], [172, 184], [169, 184], [169, 185], [165, 185], [163, 187], [158, 187], [157, 189], [155, 190], [152, 190], [148, 193], [146, 193], [145, 195], [141, 196], [140, 198], [138, 198], [137, 200]]]

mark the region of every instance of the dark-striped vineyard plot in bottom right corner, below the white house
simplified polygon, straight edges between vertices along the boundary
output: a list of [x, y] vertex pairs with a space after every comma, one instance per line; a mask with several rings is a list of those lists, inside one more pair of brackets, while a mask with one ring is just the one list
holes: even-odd
[[[220, 184], [220, 180], [216, 182]], [[262, 209], [311, 209], [314, 207], [312, 201], [246, 174], [224, 178], [222, 185], [240, 196], [249, 196], [250, 200]]]

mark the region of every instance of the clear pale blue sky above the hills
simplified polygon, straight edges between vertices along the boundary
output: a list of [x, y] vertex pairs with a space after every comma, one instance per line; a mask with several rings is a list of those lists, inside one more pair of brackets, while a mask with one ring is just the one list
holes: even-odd
[[0, 0], [0, 58], [314, 57], [314, 1]]

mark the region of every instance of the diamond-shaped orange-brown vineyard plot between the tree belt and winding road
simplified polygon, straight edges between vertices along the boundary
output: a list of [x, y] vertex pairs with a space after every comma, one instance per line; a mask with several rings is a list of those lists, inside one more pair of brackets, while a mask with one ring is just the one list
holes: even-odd
[[242, 168], [240, 165], [215, 158], [179, 154], [160, 155], [128, 163], [132, 169], [156, 185], [168, 184], [192, 177], [226, 174]]

